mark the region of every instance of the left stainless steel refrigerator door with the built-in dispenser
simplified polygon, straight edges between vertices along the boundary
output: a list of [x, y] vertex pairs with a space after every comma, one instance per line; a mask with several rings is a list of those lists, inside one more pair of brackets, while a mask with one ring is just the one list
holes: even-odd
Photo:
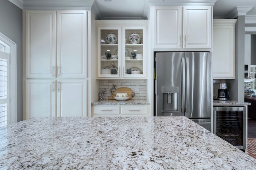
[[[182, 64], [184, 52], [156, 53], [156, 116], [184, 116], [185, 100], [182, 94]], [[185, 68], [184, 68], [185, 69]], [[183, 99], [183, 100], [182, 100]], [[183, 103], [183, 109], [182, 109]]]

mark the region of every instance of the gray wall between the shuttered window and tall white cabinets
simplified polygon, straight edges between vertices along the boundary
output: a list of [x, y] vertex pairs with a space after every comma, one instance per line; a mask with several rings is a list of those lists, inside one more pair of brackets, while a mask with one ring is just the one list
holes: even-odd
[[17, 121], [22, 121], [22, 10], [0, 0], [0, 32], [17, 45]]

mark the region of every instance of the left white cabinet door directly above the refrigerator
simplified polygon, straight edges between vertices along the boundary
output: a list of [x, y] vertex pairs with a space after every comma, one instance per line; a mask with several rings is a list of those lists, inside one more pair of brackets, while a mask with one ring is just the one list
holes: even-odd
[[154, 9], [154, 48], [181, 48], [181, 7]]

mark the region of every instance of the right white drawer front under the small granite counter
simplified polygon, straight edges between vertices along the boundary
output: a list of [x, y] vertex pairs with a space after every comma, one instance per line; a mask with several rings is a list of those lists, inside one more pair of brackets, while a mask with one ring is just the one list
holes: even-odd
[[148, 106], [122, 106], [121, 116], [147, 116]]

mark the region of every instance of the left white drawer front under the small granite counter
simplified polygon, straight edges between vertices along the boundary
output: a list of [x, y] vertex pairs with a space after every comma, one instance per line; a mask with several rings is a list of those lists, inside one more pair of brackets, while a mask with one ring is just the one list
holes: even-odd
[[93, 115], [94, 116], [119, 116], [120, 107], [119, 106], [94, 106]]

